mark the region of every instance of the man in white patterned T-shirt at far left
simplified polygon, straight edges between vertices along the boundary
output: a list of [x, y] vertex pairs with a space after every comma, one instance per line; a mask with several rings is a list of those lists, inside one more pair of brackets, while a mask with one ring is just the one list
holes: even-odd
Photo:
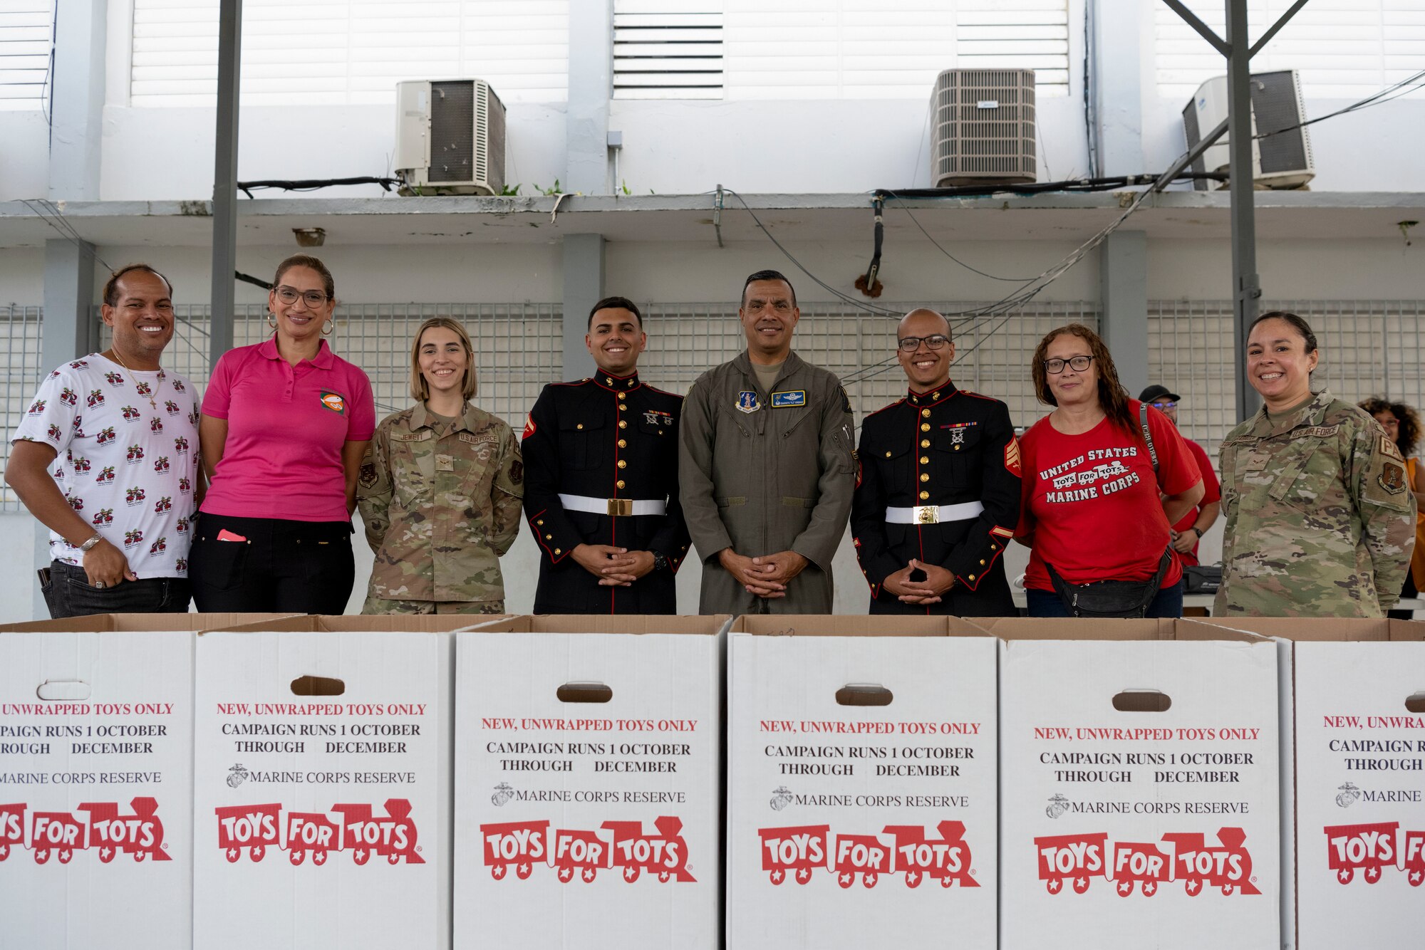
[[40, 383], [4, 480], [50, 528], [53, 561], [40, 570], [50, 617], [187, 612], [202, 481], [194, 386], [160, 365], [172, 285], [131, 263], [108, 278], [100, 315], [111, 346]]

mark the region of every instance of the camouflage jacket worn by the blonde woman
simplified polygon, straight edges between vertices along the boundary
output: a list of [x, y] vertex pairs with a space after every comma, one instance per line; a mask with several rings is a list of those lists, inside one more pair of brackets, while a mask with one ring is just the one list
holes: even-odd
[[504, 597], [499, 557], [520, 530], [524, 463], [514, 433], [483, 409], [445, 423], [412, 406], [386, 416], [366, 449], [356, 504], [376, 553], [370, 597]]

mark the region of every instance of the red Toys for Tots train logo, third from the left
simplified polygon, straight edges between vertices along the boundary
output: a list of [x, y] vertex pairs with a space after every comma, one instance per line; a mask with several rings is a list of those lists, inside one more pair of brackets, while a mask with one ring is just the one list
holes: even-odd
[[604, 822], [598, 830], [553, 832], [544, 820], [500, 822], [480, 825], [480, 839], [484, 842], [484, 865], [496, 880], [504, 880], [512, 867], [514, 876], [524, 880], [537, 865], [544, 865], [566, 884], [576, 873], [587, 883], [600, 870], [611, 869], [618, 869], [627, 883], [644, 873], [657, 876], [661, 883], [695, 882], [688, 873], [683, 820], [664, 815], [654, 819], [653, 826], [654, 832], [648, 835], [643, 822]]

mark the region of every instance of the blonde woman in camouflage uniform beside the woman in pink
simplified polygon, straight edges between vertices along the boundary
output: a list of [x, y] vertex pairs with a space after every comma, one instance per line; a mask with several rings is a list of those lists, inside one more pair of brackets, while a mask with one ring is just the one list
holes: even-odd
[[446, 316], [410, 346], [419, 402], [376, 427], [356, 484], [376, 553], [363, 614], [502, 614], [524, 466], [504, 420], [476, 407], [475, 352]]

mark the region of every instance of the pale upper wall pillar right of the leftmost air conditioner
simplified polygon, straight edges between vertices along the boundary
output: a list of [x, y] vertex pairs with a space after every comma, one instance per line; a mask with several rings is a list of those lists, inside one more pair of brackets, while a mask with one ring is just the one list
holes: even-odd
[[[569, 4], [569, 104], [564, 191], [608, 194], [608, 97], [613, 95], [613, 0]], [[567, 376], [566, 369], [566, 376]]]

